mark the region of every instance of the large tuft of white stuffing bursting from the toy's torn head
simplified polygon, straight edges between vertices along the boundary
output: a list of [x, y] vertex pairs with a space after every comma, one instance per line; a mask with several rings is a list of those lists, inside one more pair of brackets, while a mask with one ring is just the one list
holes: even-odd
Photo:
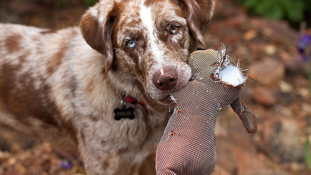
[[239, 68], [235, 65], [225, 65], [225, 68], [220, 70], [219, 75], [216, 77], [221, 79], [222, 82], [227, 82], [233, 86], [238, 86], [244, 83], [247, 79], [247, 76], [242, 75]]

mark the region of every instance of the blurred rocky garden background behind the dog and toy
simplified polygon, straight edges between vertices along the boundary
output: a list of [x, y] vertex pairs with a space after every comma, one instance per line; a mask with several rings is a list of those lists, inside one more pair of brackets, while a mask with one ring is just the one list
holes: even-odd
[[[76, 26], [96, 0], [0, 0], [0, 22]], [[248, 134], [230, 107], [216, 123], [217, 175], [311, 174], [311, 1], [218, 0], [206, 48], [230, 45], [230, 58], [259, 80], [241, 98], [258, 117]], [[302, 22], [304, 21], [304, 22]], [[308, 77], [309, 75], [309, 77]], [[159, 138], [160, 139], [160, 138]], [[0, 174], [84, 174], [49, 143], [0, 128]]]

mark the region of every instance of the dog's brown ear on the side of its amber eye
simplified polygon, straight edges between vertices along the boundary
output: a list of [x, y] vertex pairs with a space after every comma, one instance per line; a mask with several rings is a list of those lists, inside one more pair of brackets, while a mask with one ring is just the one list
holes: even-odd
[[204, 45], [202, 32], [211, 20], [216, 0], [179, 0], [190, 31], [197, 41]]

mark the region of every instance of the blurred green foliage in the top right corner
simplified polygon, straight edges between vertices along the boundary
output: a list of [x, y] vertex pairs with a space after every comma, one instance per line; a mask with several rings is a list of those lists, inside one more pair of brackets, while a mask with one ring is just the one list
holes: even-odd
[[310, 11], [311, 0], [240, 0], [241, 4], [257, 15], [290, 22], [304, 20]]

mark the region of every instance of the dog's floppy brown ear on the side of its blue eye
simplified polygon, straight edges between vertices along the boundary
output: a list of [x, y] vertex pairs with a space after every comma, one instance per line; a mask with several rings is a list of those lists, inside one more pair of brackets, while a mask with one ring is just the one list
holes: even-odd
[[101, 0], [88, 10], [80, 21], [81, 32], [86, 42], [105, 56], [105, 71], [110, 70], [114, 58], [111, 35], [115, 8], [114, 0]]

